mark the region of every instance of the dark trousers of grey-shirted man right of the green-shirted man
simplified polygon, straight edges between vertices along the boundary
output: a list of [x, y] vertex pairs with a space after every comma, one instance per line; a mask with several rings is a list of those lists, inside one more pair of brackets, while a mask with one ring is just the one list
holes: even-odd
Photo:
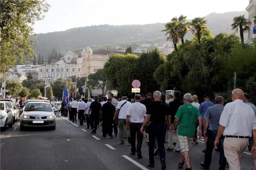
[[[218, 130], [207, 130], [208, 139], [206, 143], [206, 151], [204, 155], [204, 163], [206, 166], [210, 166], [212, 162], [212, 150], [214, 148], [214, 141], [217, 136]], [[223, 141], [224, 137], [220, 137], [220, 143], [218, 145], [218, 149], [220, 150], [220, 160], [219, 160], [219, 169], [223, 170], [226, 166], [226, 157], [224, 155], [224, 149], [223, 149]]]

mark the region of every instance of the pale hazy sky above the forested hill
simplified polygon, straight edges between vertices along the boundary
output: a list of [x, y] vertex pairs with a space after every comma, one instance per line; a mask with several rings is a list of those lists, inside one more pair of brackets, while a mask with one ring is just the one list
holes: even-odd
[[180, 14], [188, 19], [211, 12], [244, 11], [249, 0], [47, 0], [51, 5], [36, 33], [91, 25], [165, 23]]

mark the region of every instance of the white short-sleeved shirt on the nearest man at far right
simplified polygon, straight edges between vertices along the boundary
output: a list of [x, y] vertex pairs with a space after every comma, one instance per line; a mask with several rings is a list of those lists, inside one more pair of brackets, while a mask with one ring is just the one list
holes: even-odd
[[251, 137], [252, 129], [256, 129], [256, 117], [251, 106], [236, 99], [224, 107], [220, 125], [226, 127], [223, 136]]

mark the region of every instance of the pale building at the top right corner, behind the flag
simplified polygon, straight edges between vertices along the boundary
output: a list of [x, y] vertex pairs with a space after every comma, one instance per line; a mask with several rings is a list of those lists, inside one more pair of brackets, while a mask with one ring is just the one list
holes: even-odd
[[[253, 22], [254, 16], [256, 16], [256, 0], [249, 0], [249, 5], [245, 8], [248, 11], [248, 20]], [[252, 33], [252, 30], [248, 32], [248, 42], [252, 43], [252, 40], [256, 38], [256, 34]]]

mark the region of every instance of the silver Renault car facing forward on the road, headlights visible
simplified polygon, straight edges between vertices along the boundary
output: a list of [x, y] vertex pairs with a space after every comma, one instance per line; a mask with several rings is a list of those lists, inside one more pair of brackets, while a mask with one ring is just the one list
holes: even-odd
[[56, 116], [48, 102], [29, 102], [20, 116], [20, 130], [24, 127], [50, 127], [55, 130]]

